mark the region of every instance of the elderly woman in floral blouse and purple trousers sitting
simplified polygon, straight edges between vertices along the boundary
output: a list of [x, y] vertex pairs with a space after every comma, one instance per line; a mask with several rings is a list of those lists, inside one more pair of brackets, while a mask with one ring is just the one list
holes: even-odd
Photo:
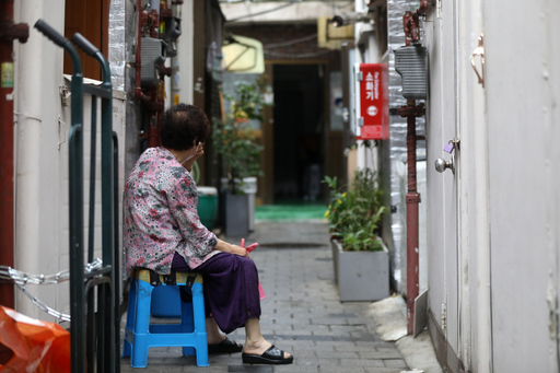
[[[196, 106], [178, 104], [165, 112], [162, 147], [142, 153], [125, 186], [127, 270], [202, 273], [209, 352], [243, 351], [245, 363], [289, 364], [293, 357], [260, 333], [255, 263], [244, 247], [218, 240], [200, 223], [190, 168], [205, 153], [209, 131], [208, 118]], [[220, 333], [241, 326], [246, 331], [243, 347]]]

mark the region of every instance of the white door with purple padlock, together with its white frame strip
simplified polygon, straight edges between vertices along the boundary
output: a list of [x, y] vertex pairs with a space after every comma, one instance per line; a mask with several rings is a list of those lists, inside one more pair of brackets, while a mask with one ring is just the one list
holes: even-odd
[[[487, 205], [488, 159], [483, 90], [470, 65], [481, 33], [481, 5], [480, 0], [436, 4], [424, 23], [430, 54], [430, 307], [445, 338], [450, 368], [483, 372], [478, 366], [490, 361], [490, 316], [483, 312], [490, 300], [480, 283], [489, 278], [489, 252], [479, 206]], [[452, 154], [444, 151], [450, 140], [456, 140]], [[453, 161], [454, 172], [439, 174], [436, 159]]]

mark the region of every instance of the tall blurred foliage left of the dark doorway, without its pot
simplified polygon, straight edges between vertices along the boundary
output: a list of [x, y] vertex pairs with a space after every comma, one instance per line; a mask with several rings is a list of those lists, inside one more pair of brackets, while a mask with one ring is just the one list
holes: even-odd
[[260, 110], [265, 103], [259, 90], [256, 83], [236, 82], [235, 94], [226, 97], [232, 102], [232, 114], [213, 125], [213, 149], [222, 155], [232, 194], [243, 194], [244, 177], [262, 175], [264, 148], [257, 143], [257, 131], [247, 124], [248, 119], [262, 120]]

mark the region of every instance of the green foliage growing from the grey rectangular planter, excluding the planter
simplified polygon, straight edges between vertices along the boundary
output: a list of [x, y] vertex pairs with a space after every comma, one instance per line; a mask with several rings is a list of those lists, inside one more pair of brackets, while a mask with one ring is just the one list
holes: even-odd
[[330, 202], [325, 212], [329, 232], [347, 252], [382, 250], [378, 236], [385, 207], [383, 193], [378, 188], [376, 174], [359, 170], [354, 174], [352, 188], [342, 191], [336, 177], [325, 176], [330, 188]]

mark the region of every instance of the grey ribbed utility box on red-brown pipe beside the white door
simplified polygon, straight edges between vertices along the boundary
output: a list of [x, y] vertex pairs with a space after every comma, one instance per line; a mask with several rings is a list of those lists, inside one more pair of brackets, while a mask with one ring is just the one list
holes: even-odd
[[395, 50], [395, 70], [402, 77], [402, 97], [407, 100], [428, 98], [428, 49], [410, 45]]

